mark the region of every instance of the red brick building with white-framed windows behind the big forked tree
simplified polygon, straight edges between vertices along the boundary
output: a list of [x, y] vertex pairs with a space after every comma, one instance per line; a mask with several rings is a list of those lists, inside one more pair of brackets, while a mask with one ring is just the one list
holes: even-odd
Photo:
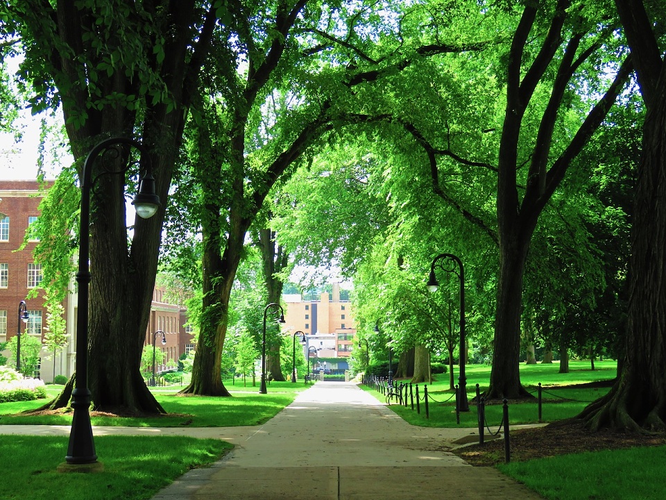
[[[35, 263], [33, 251], [36, 241], [28, 241], [20, 251], [28, 226], [39, 217], [42, 194], [37, 181], [0, 181], [0, 342], [11, 340], [21, 328], [21, 335], [31, 335], [43, 341], [43, 326], [46, 322], [44, 296], [40, 292], [33, 299], [26, 299], [29, 290], [42, 280], [42, 269]], [[35, 376], [51, 382], [55, 375], [69, 377], [74, 373], [76, 361], [76, 306], [77, 295], [74, 281], [63, 303], [65, 321], [69, 335], [67, 347], [56, 356], [42, 349], [42, 363]], [[28, 309], [28, 324], [19, 320], [19, 303], [25, 300]], [[20, 326], [19, 326], [20, 322]], [[155, 349], [164, 351], [165, 363], [157, 367], [161, 371], [167, 360], [177, 362], [182, 353], [195, 347], [196, 340], [190, 328], [185, 327], [187, 311], [179, 305], [164, 301], [164, 290], [155, 288], [151, 304], [151, 317], [146, 331], [145, 344], [151, 346], [158, 330], [164, 331], [167, 344], [161, 336]], [[4, 352], [9, 356], [9, 351]], [[12, 363], [13, 364], [13, 363]]]

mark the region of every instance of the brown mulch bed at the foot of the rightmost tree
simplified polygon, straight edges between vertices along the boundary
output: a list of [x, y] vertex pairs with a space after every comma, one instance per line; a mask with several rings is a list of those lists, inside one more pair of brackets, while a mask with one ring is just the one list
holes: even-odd
[[[544, 458], [567, 453], [660, 446], [666, 444], [666, 433], [628, 434], [612, 431], [590, 432], [580, 422], [557, 422], [545, 427], [511, 431], [511, 462]], [[504, 440], [486, 441], [452, 450], [475, 466], [504, 463]]]

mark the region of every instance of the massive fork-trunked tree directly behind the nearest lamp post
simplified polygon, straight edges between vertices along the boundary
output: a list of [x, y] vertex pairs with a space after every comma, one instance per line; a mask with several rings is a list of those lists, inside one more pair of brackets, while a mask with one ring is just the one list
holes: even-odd
[[[31, 91], [33, 112], [62, 108], [76, 160], [74, 171], [65, 174], [69, 192], [76, 192], [81, 160], [102, 138], [140, 135], [151, 157], [162, 208], [153, 219], [137, 219], [131, 240], [126, 233], [127, 179], [103, 176], [93, 190], [88, 385], [95, 409], [163, 412], [139, 363], [182, 130], [225, 8], [221, 2], [181, 0], [12, 0], [0, 10], [3, 35], [22, 40], [21, 78]], [[95, 174], [103, 165], [119, 171], [129, 156], [130, 151], [121, 151], [111, 165], [100, 160]], [[136, 170], [130, 173], [134, 176]], [[67, 220], [53, 235], [68, 239], [78, 229], [74, 213], [68, 206], [54, 217]], [[46, 274], [44, 278], [49, 280]], [[67, 399], [62, 397], [60, 404]]]

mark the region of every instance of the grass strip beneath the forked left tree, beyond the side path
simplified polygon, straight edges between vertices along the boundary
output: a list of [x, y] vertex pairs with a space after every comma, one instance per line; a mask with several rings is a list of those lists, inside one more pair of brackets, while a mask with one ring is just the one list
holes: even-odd
[[[49, 397], [55, 397], [60, 389], [48, 386]], [[153, 394], [169, 415], [162, 417], [121, 418], [92, 416], [94, 426], [130, 427], [228, 427], [251, 426], [266, 422], [289, 405], [296, 394], [308, 385], [291, 382], [272, 382], [268, 394], [259, 394], [259, 387], [230, 387], [232, 397], [180, 396], [180, 387], [155, 387]], [[240, 389], [243, 390], [240, 390]], [[248, 390], [250, 389], [250, 390]], [[70, 425], [71, 413], [60, 415], [21, 415], [20, 412], [39, 408], [46, 400], [0, 403], [0, 424]]]

